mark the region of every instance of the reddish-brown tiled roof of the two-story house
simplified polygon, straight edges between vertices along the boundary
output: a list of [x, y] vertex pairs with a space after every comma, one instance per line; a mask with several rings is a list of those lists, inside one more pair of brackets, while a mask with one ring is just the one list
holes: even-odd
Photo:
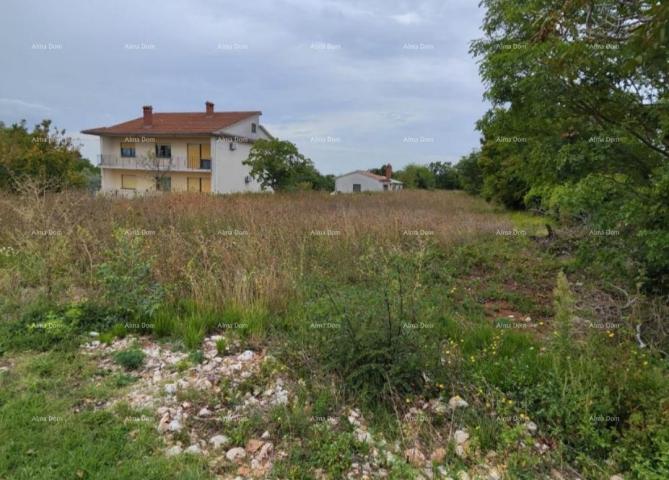
[[214, 113], [159, 113], [153, 112], [152, 124], [144, 125], [143, 117], [112, 125], [91, 128], [81, 133], [89, 135], [213, 135], [246, 118], [261, 115], [261, 112], [214, 112]]

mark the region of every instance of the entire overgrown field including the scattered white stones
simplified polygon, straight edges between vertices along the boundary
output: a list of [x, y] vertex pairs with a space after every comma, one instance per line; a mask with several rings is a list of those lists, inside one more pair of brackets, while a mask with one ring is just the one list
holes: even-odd
[[1, 479], [669, 478], [664, 313], [543, 218], [33, 192], [0, 222]]

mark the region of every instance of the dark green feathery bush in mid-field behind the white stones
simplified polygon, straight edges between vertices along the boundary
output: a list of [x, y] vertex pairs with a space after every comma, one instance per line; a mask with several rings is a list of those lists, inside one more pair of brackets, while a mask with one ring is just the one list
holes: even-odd
[[339, 377], [346, 393], [368, 405], [390, 406], [421, 394], [425, 376], [435, 378], [441, 370], [438, 320], [422, 303], [417, 275], [423, 261], [397, 252], [365, 255], [358, 262], [359, 283], [333, 290], [312, 279], [320, 286], [307, 287], [302, 331], [291, 335], [299, 346], [291, 348], [312, 348], [318, 368]]

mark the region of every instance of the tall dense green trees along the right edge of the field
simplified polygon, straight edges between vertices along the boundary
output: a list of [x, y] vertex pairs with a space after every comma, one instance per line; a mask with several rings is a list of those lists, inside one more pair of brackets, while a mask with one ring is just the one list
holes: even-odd
[[669, 2], [482, 5], [471, 52], [491, 108], [463, 187], [609, 232], [581, 242], [587, 255], [667, 291]]

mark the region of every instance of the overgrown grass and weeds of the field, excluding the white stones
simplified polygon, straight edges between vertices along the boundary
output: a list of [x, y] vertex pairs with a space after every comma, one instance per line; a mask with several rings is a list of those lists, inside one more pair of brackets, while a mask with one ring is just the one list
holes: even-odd
[[[349, 406], [362, 407], [374, 431], [402, 448], [448, 446], [445, 463], [454, 472], [475, 461], [449, 446], [449, 433], [463, 428], [482, 453], [497, 452], [510, 478], [537, 478], [565, 464], [585, 478], [669, 476], [666, 360], [638, 348], [630, 323], [650, 309], [624, 311], [615, 332], [584, 328], [597, 310], [583, 307], [575, 285], [595, 289], [597, 279], [577, 272], [551, 240], [533, 238], [546, 233], [543, 219], [453, 192], [55, 201], [59, 209], [41, 200], [0, 203], [7, 225], [0, 245], [12, 248], [0, 256], [0, 350], [18, 359], [0, 379], [7, 439], [26, 424], [17, 402], [35, 411], [50, 406], [34, 398], [35, 382], [41, 389], [65, 371], [77, 379], [65, 382], [69, 390], [49, 392], [63, 416], [90, 395], [95, 375], [85, 361], [54, 362], [70, 359], [91, 330], [108, 342], [141, 334], [181, 344], [190, 354], [178, 368], [200, 362], [203, 338], [218, 334], [220, 354], [268, 348], [302, 385], [294, 403], [225, 427], [237, 444], [277, 433], [288, 455], [275, 466], [276, 478], [313, 478], [317, 468], [343, 476], [366, 446], [350, 429], [313, 419]], [[53, 238], [31, 233], [58, 225]], [[128, 262], [133, 268], [124, 268]], [[131, 369], [137, 360], [130, 353], [120, 362]], [[77, 365], [82, 371], [69, 370]], [[106, 378], [92, 396], [133, 381], [128, 374]], [[222, 390], [234, 404], [253, 388]], [[462, 413], [403, 420], [421, 402], [456, 394], [470, 404]], [[179, 400], [199, 402], [199, 395], [183, 391]], [[111, 473], [111, 457], [129, 455], [127, 472], [153, 478], [151, 469], [175, 465], [156, 455], [149, 430], [140, 435], [145, 444], [127, 453], [114, 412], [82, 413], [85, 429], [57, 423], [48, 438], [85, 443], [100, 435], [114, 453], [101, 454], [104, 465], [86, 459], [86, 468], [123, 478]], [[525, 430], [529, 419], [539, 425], [536, 438]], [[29, 433], [40, 434], [34, 430], [30, 425]], [[537, 439], [551, 445], [548, 453], [533, 449]], [[47, 465], [64, 455], [57, 449], [40, 464], [15, 458], [21, 452], [7, 450], [0, 475], [48, 478]], [[140, 453], [149, 455], [147, 465], [137, 463]], [[82, 455], [75, 449], [74, 458]], [[76, 475], [74, 463], [63, 461], [58, 476]], [[180, 478], [204, 471], [191, 460], [178, 469]], [[402, 462], [388, 474], [416, 476]]]

